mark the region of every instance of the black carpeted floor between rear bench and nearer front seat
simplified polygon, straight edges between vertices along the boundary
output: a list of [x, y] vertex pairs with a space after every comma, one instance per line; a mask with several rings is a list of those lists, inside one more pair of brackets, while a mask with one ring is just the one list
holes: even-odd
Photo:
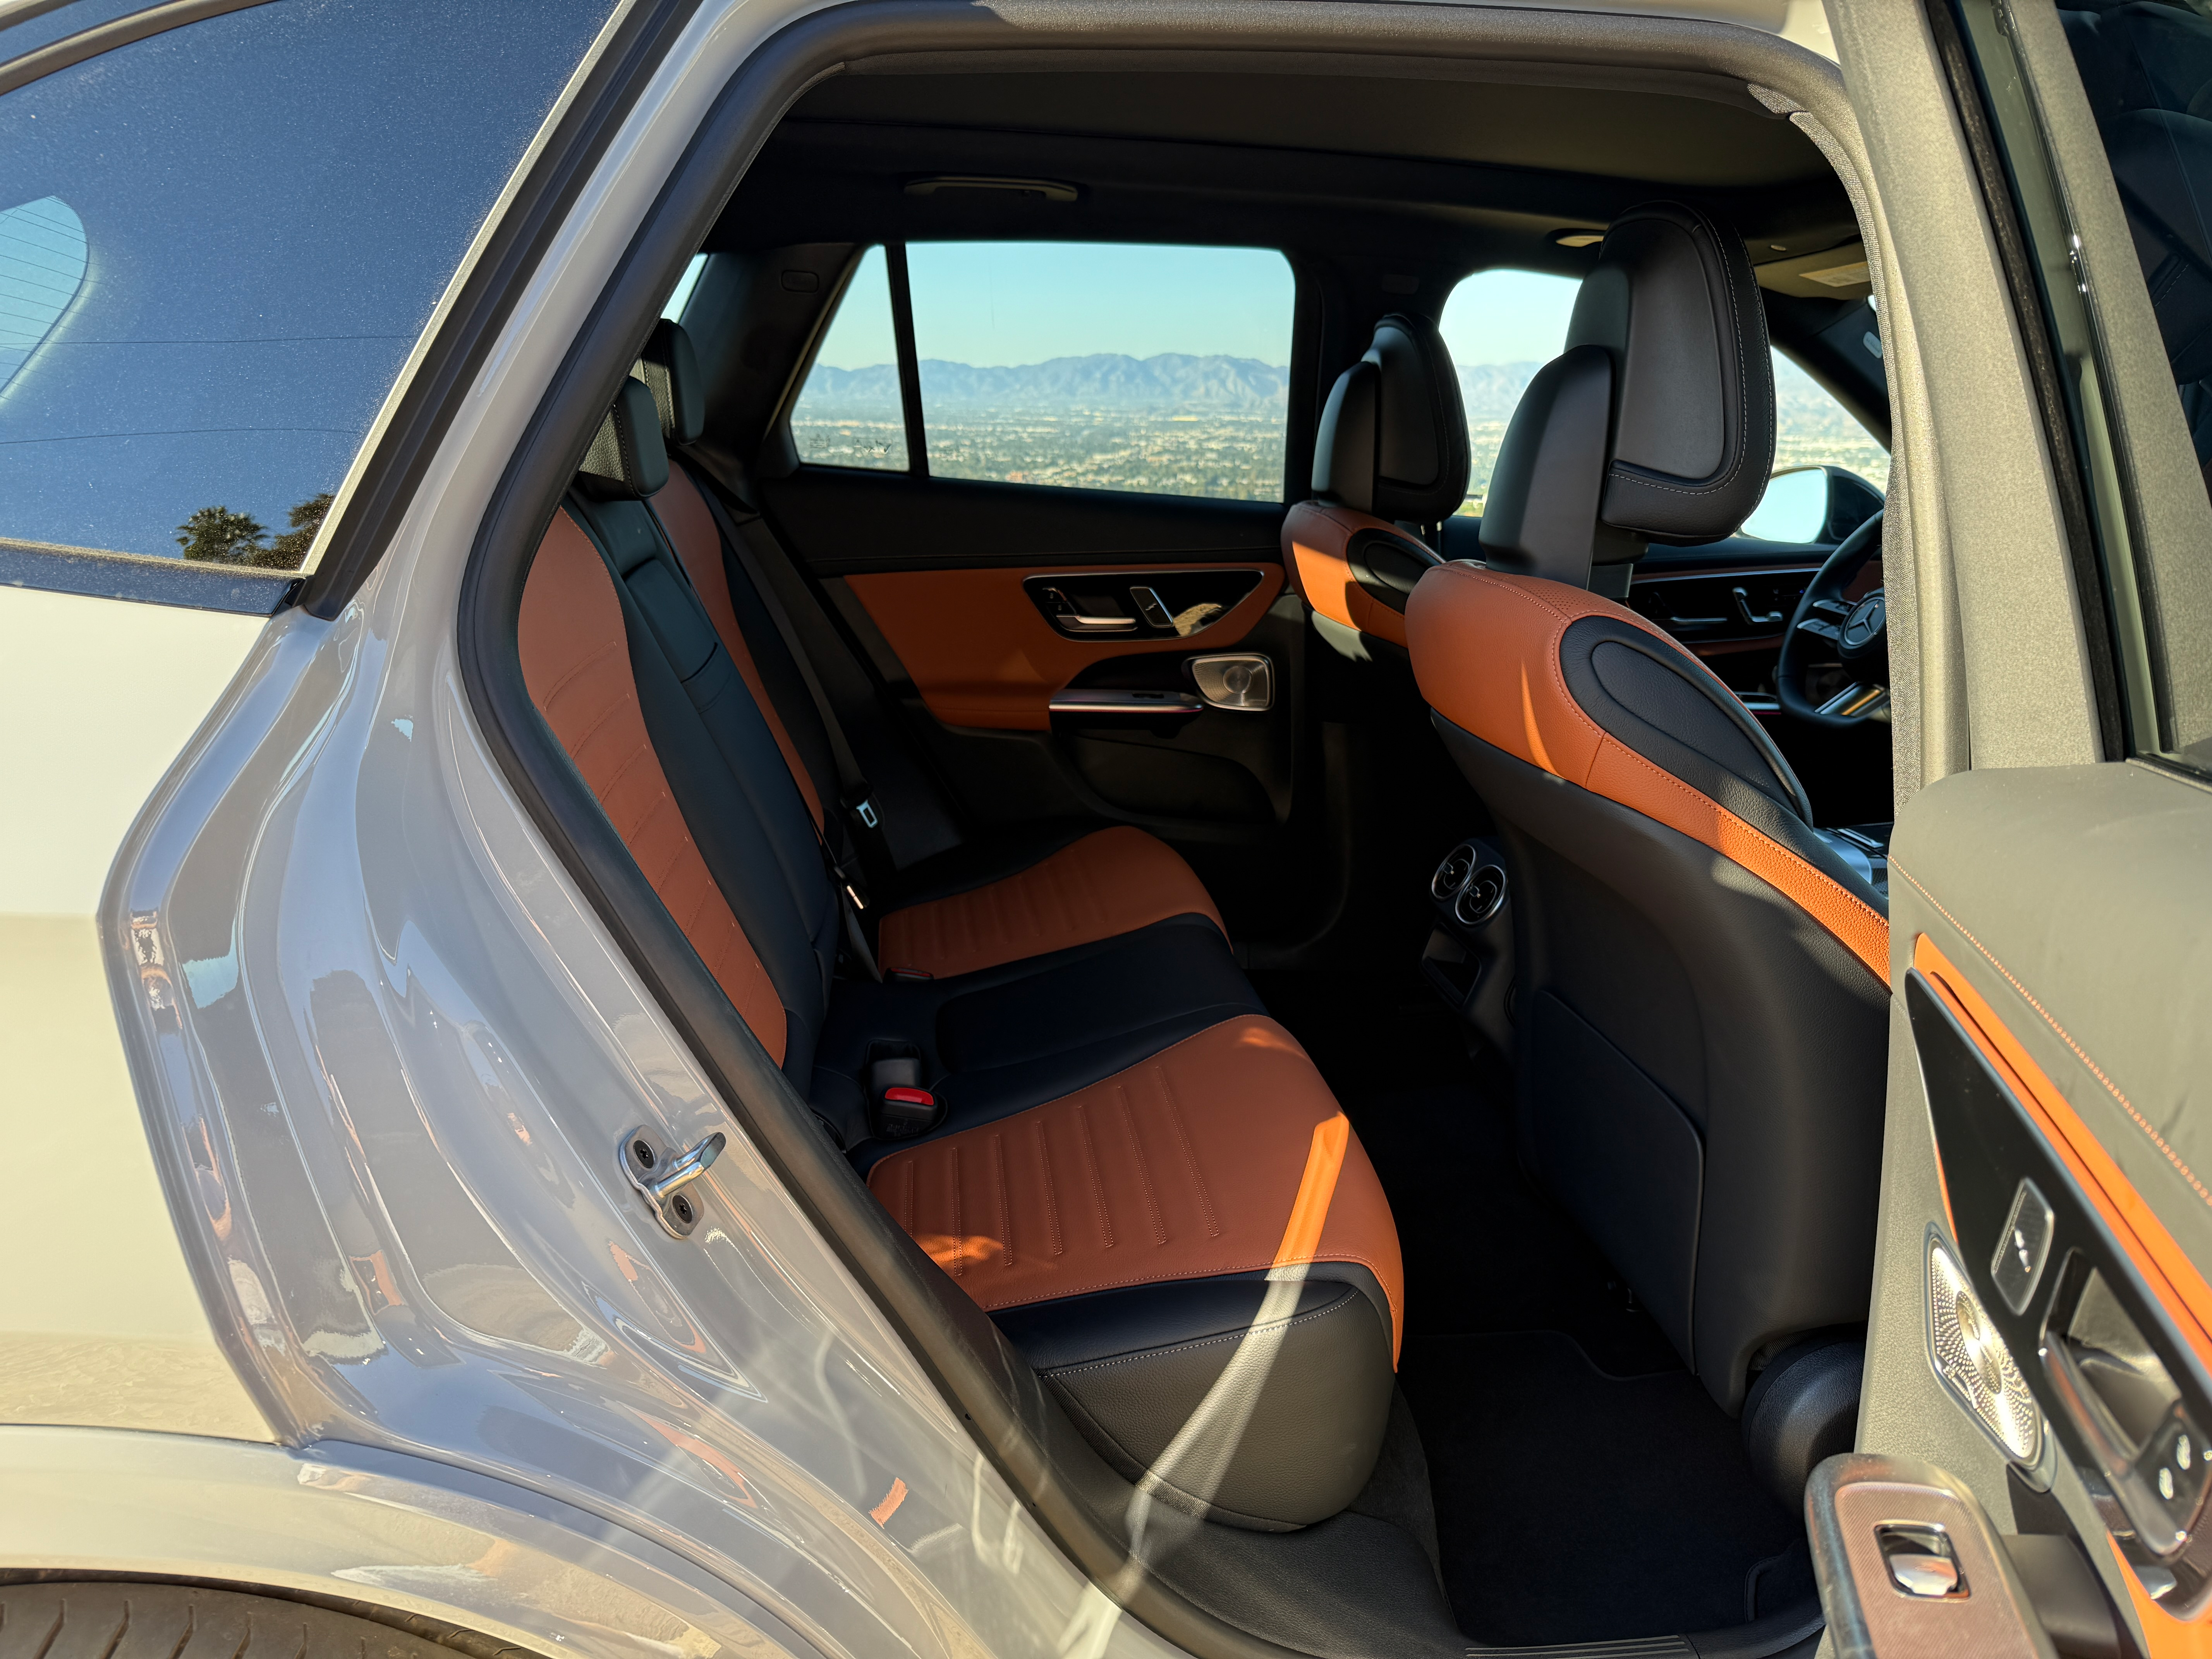
[[1367, 1146], [1407, 1261], [1398, 1380], [1482, 1644], [1712, 1630], [1812, 1593], [1803, 1522], [1606, 1259], [1520, 1170], [1513, 1075], [1418, 978], [1254, 973]]

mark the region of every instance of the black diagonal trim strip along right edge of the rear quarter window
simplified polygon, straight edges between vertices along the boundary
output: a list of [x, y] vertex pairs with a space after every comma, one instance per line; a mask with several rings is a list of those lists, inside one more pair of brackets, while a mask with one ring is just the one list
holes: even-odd
[[[699, 0], [637, 0], [617, 24], [409, 376], [301, 591], [303, 611], [336, 617], [383, 555], [429, 458], [513, 312], [524, 276], [544, 257], [591, 170], [697, 9]], [[668, 285], [675, 285], [675, 276]], [[644, 345], [644, 336], [637, 345]], [[613, 396], [608, 387], [602, 407]], [[577, 453], [582, 456], [582, 447]]]

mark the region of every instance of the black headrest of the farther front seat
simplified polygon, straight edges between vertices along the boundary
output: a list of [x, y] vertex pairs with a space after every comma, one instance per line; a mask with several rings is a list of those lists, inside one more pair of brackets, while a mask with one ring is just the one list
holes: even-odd
[[1356, 513], [1431, 524], [1467, 500], [1467, 411], [1436, 323], [1391, 314], [1336, 376], [1314, 434], [1314, 493]]

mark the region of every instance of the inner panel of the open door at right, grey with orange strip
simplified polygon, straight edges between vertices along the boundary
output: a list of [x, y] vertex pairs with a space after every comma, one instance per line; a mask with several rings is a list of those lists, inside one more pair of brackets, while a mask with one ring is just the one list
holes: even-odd
[[[2212, 1535], [2197, 1537], [2212, 1413], [2212, 1287], [2197, 1265], [2212, 1261], [2208, 914], [2212, 792], [2143, 763], [1958, 774], [1913, 799], [1891, 843], [1909, 1071], [1891, 1104], [1860, 1444], [1973, 1480], [2008, 1531], [2053, 1531], [2064, 1513], [2150, 1652], [2194, 1641], [2201, 1626], [2174, 1615], [2212, 1599]], [[2035, 1396], [2048, 1440], [2035, 1455], [1980, 1431], [1940, 1380], [1931, 1241], [1951, 1245]], [[2064, 1363], [2081, 1347], [2068, 1332], [2088, 1272], [2174, 1396], [2121, 1376], [2154, 1405], [2132, 1427], [2121, 1411], [2117, 1440], [2099, 1389]], [[2168, 1407], [2185, 1416], [2159, 1427]], [[2161, 1469], [2170, 1495], [2146, 1509]], [[2132, 1511], [2117, 1491], [2130, 1478]], [[2148, 1531], [2168, 1517], [2188, 1542], [2161, 1551]]]

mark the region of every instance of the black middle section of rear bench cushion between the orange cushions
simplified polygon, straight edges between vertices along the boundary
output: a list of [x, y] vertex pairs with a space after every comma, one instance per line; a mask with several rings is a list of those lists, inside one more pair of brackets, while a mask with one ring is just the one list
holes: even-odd
[[876, 1044], [911, 1044], [947, 1104], [936, 1135], [975, 1128], [1113, 1077], [1183, 1037], [1265, 1013], [1206, 916], [953, 980], [838, 982], [816, 1048], [814, 1110], [860, 1175], [907, 1141], [867, 1139], [863, 1077]]

